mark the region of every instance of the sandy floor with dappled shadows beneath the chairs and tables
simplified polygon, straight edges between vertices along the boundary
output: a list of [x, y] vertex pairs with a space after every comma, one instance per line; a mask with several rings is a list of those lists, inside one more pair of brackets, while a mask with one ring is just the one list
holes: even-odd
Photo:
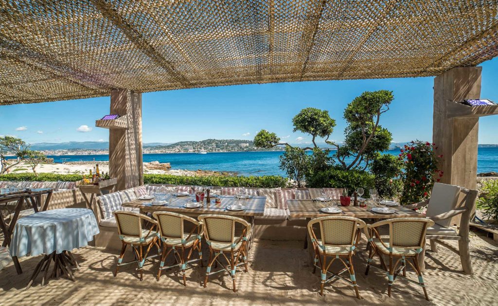
[[366, 277], [365, 241], [354, 259], [361, 300], [342, 282], [327, 285], [321, 297], [319, 273], [311, 273], [301, 241], [256, 241], [249, 272], [236, 274], [237, 293], [226, 274], [212, 276], [203, 288], [205, 268], [198, 265], [187, 271], [187, 287], [176, 270], [163, 271], [156, 282], [157, 261], [146, 263], [142, 282], [133, 265], [122, 267], [115, 278], [117, 253], [95, 247], [76, 250], [81, 265], [76, 282], [61, 278], [40, 287], [38, 279], [28, 291], [23, 289], [40, 257], [21, 258], [22, 275], [12, 264], [0, 271], [0, 305], [497, 305], [498, 246], [481, 234], [473, 234], [471, 241], [473, 276], [461, 272], [454, 253], [442, 247], [439, 253], [427, 252], [424, 275], [431, 302], [424, 300], [420, 287], [402, 279], [395, 281], [389, 298], [385, 274], [371, 269]]

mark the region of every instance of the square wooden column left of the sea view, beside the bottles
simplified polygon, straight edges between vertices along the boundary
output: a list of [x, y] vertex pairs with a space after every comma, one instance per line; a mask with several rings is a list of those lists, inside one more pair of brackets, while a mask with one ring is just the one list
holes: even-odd
[[143, 185], [142, 95], [128, 89], [111, 92], [111, 114], [124, 116], [126, 128], [109, 129], [109, 173], [117, 190]]

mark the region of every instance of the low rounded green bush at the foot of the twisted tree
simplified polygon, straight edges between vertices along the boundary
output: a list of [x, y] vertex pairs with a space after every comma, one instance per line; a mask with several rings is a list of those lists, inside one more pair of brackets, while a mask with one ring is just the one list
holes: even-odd
[[368, 189], [374, 185], [374, 177], [367, 171], [344, 170], [339, 167], [331, 167], [326, 171], [316, 173], [307, 181], [309, 188], [347, 188], [350, 193], [358, 187]]

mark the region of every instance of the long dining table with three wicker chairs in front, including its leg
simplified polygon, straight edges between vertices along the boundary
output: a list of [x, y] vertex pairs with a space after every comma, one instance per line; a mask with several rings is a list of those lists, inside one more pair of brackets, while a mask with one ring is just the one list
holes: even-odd
[[[252, 226], [253, 234], [249, 239], [249, 247], [252, 243], [254, 236], [254, 217], [262, 216], [264, 214], [264, 206], [266, 197], [263, 196], [250, 196], [248, 199], [238, 199], [236, 196], [217, 196], [221, 203], [215, 203], [215, 197], [211, 198], [211, 202], [207, 203], [206, 199], [202, 201], [200, 207], [187, 208], [184, 206], [187, 202], [195, 202], [195, 195], [189, 194], [186, 196], [176, 196], [174, 194], [156, 196], [154, 200], [166, 201], [165, 205], [152, 205], [152, 199], [149, 200], [134, 200], [124, 203], [124, 207], [139, 208], [141, 213], [152, 213], [155, 211], [172, 211], [193, 217], [201, 214], [224, 214], [240, 217], [249, 222]], [[245, 206], [244, 210], [233, 211], [227, 207], [234, 204], [242, 204]]]

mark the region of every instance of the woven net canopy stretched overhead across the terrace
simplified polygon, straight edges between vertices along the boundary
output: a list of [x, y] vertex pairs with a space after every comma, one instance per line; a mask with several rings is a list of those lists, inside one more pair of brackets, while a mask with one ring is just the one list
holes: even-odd
[[435, 76], [497, 42], [497, 0], [0, 0], [0, 104]]

